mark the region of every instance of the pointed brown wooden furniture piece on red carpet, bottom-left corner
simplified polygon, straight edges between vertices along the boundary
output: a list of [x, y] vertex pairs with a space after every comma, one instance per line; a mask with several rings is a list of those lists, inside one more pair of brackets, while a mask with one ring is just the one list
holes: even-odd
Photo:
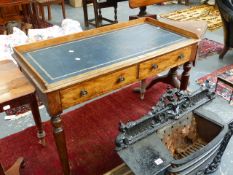
[[2, 164], [0, 163], [0, 175], [20, 175], [19, 169], [23, 166], [23, 158], [20, 157], [16, 160], [16, 162], [5, 171]]

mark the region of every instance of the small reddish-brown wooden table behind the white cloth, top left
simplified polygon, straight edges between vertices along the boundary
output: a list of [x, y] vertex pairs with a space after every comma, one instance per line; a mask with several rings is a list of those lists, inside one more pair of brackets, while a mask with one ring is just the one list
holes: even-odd
[[48, 9], [48, 20], [52, 19], [52, 17], [51, 17], [51, 7], [50, 7], [52, 4], [61, 5], [63, 18], [64, 19], [66, 18], [64, 0], [36, 0], [36, 2], [37, 2], [37, 5], [39, 6], [43, 21], [45, 21], [44, 7], [47, 7], [47, 9]]

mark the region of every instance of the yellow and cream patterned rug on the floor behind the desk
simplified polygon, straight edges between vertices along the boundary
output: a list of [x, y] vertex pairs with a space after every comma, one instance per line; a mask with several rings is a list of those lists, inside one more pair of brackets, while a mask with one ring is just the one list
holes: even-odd
[[217, 9], [214, 8], [214, 6], [211, 5], [194, 6], [167, 14], [161, 14], [160, 17], [175, 21], [203, 20], [208, 23], [208, 29], [210, 31], [222, 27], [220, 13]]

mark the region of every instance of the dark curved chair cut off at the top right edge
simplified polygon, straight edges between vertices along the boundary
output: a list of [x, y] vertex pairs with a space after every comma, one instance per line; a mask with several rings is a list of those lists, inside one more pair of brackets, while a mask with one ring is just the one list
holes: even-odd
[[233, 47], [233, 5], [229, 1], [232, 0], [216, 0], [224, 30], [224, 48], [219, 58], [223, 58], [227, 51]]

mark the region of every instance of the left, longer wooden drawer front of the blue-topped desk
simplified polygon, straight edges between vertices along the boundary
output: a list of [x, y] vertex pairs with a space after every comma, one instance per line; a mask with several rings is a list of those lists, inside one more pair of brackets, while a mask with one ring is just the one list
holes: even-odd
[[62, 108], [87, 101], [114, 89], [133, 83], [137, 78], [137, 66], [103, 75], [60, 91]]

